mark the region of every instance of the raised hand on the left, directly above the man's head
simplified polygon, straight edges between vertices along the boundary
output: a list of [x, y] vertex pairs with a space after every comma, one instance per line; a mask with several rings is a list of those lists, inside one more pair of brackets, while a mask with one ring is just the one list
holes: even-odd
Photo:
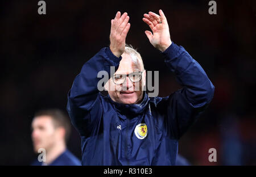
[[110, 29], [110, 50], [112, 53], [120, 57], [125, 51], [125, 39], [130, 29], [129, 16], [127, 13], [117, 12], [115, 18], [111, 20]]

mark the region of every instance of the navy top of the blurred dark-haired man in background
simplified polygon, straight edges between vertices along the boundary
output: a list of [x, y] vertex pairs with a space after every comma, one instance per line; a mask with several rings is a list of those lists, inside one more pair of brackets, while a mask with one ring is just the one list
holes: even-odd
[[[46, 157], [47, 158], [47, 157]], [[36, 159], [31, 164], [32, 166], [42, 166], [43, 162], [39, 162]], [[81, 162], [75, 155], [66, 149], [62, 154], [59, 155], [52, 163], [48, 164], [49, 166], [81, 166]]]

